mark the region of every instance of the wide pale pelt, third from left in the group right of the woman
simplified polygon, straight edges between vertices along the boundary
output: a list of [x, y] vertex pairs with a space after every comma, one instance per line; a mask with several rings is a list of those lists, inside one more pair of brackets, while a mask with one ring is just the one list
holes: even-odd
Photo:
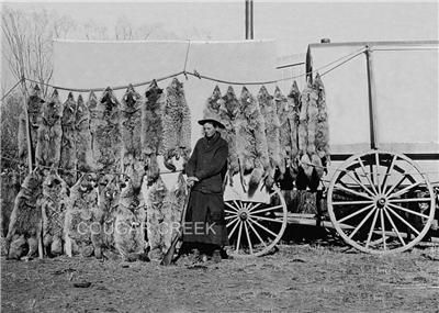
[[[252, 193], [269, 168], [266, 124], [258, 102], [246, 87], [241, 91], [240, 108], [240, 114], [236, 120], [236, 146], [240, 174], [251, 172], [248, 192]], [[246, 188], [244, 181], [241, 179]]]

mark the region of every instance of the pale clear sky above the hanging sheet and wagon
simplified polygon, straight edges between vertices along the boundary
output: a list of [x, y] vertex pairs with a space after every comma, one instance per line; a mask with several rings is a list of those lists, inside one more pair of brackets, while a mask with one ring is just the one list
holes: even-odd
[[[245, 38], [245, 0], [135, 2], [2, 1], [14, 9], [46, 8], [79, 24], [158, 25], [166, 38]], [[254, 1], [255, 38], [275, 40], [278, 56], [303, 54], [309, 43], [438, 40], [438, 1]], [[75, 37], [75, 35], [72, 35]]]

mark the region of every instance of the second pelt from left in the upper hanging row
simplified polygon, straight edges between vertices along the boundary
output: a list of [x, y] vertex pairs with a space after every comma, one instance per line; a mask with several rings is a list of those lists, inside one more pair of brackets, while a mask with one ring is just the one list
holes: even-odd
[[36, 166], [57, 168], [61, 150], [63, 104], [55, 89], [49, 101], [43, 105], [35, 153]]

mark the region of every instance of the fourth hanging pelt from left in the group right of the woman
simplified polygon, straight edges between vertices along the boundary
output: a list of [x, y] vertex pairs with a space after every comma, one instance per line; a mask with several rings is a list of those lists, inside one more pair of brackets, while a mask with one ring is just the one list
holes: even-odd
[[259, 109], [266, 124], [268, 156], [270, 160], [269, 175], [267, 176], [266, 180], [266, 185], [268, 187], [273, 185], [274, 172], [278, 168], [281, 170], [281, 175], [284, 174], [284, 167], [281, 165], [283, 163], [281, 158], [280, 146], [280, 122], [273, 98], [273, 96], [268, 93], [264, 86], [260, 88], [257, 96]]

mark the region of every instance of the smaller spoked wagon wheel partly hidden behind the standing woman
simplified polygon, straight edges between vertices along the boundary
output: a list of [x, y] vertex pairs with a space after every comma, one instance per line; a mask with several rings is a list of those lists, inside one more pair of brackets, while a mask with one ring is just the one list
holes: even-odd
[[225, 202], [228, 239], [234, 256], [262, 256], [280, 241], [286, 227], [286, 204], [279, 188], [270, 201]]

